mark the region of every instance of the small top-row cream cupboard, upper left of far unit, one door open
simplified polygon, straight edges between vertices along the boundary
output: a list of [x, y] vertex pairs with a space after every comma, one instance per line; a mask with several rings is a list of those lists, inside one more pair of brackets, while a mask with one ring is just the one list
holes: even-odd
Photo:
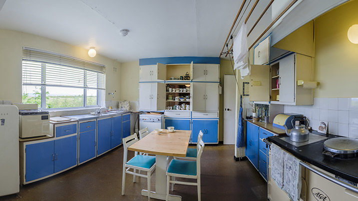
[[139, 81], [153, 82], [164, 81], [166, 78], [166, 65], [157, 63], [156, 65], [139, 66]]

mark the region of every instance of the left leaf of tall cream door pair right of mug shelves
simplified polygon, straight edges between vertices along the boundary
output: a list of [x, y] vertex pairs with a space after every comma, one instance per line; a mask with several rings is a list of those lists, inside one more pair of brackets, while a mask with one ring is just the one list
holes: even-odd
[[193, 111], [205, 111], [205, 83], [194, 82], [192, 91]]

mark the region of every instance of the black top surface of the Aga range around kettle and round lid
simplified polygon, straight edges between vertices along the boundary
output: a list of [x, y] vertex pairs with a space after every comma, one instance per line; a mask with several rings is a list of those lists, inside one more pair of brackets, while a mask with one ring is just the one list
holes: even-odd
[[[318, 134], [315, 131], [314, 133]], [[323, 155], [323, 143], [327, 139], [308, 145], [296, 147], [282, 140], [281, 138], [283, 137], [285, 136], [268, 137], [268, 141], [290, 152], [295, 157], [304, 162], [308, 162], [322, 170], [325, 170], [348, 181], [358, 183], [358, 157], [353, 159], [334, 159]], [[328, 134], [327, 137], [335, 138], [339, 136]]]

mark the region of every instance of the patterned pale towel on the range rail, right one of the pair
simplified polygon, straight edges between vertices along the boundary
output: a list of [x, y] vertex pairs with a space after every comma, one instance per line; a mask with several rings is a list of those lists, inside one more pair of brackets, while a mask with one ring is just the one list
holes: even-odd
[[284, 188], [290, 199], [297, 201], [301, 194], [301, 166], [300, 160], [291, 154], [284, 154]]

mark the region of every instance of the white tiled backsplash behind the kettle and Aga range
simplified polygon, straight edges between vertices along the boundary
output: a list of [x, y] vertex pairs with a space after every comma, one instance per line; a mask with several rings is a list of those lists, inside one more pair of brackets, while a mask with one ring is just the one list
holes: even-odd
[[284, 111], [303, 114], [314, 130], [328, 121], [328, 133], [358, 138], [358, 98], [314, 98], [313, 105], [285, 105]]

